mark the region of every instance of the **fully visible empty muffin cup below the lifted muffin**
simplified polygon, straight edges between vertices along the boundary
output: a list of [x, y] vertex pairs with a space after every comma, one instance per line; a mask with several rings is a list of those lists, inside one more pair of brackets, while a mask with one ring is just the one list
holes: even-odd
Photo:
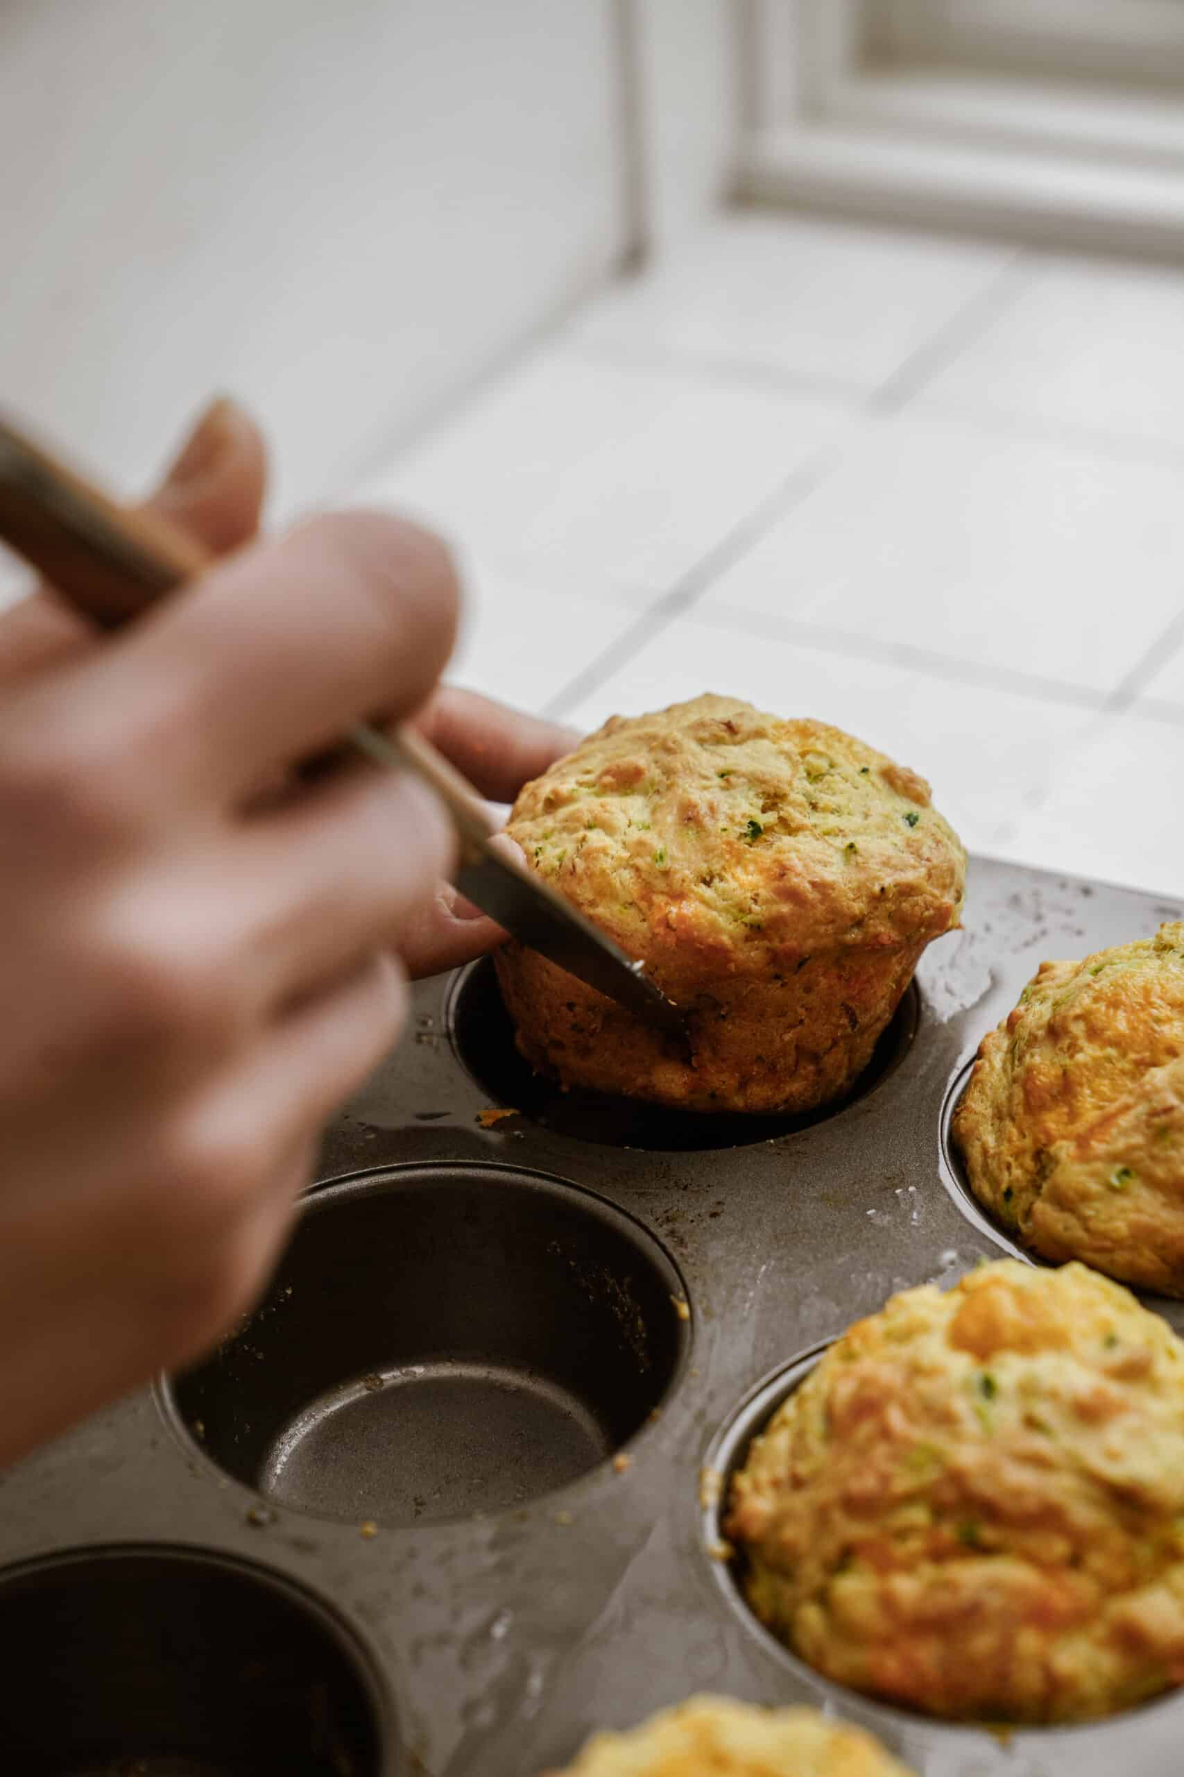
[[366, 1173], [309, 1194], [264, 1303], [167, 1391], [206, 1454], [280, 1505], [444, 1523], [605, 1462], [675, 1381], [683, 1299], [662, 1247], [575, 1185]]

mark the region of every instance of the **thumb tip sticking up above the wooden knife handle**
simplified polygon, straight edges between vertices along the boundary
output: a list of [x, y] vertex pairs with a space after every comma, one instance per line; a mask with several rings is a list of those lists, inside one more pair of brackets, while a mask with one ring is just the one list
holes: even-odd
[[201, 414], [146, 505], [211, 554], [225, 554], [257, 533], [266, 478], [259, 426], [243, 407], [222, 396]]

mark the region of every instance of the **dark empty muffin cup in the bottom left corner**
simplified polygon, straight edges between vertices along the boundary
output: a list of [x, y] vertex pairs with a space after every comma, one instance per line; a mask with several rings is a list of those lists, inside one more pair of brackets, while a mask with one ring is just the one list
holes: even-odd
[[108, 1546], [9, 1567], [0, 1646], [0, 1763], [21, 1777], [392, 1770], [362, 1647], [247, 1562]]

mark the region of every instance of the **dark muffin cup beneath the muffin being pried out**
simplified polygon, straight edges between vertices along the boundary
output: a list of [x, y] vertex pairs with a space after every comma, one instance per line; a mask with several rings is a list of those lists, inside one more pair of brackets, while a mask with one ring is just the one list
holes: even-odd
[[515, 1027], [497, 972], [488, 958], [470, 963], [456, 977], [447, 1025], [462, 1066], [493, 1100], [513, 1109], [557, 1136], [595, 1141], [611, 1148], [691, 1153], [712, 1148], [744, 1148], [777, 1136], [792, 1136], [825, 1118], [836, 1116], [873, 1091], [904, 1061], [920, 1022], [920, 995], [914, 983], [905, 988], [872, 1061], [843, 1098], [795, 1116], [751, 1116], [731, 1111], [675, 1111], [641, 1098], [620, 1098], [572, 1088], [536, 1073], [517, 1047]]

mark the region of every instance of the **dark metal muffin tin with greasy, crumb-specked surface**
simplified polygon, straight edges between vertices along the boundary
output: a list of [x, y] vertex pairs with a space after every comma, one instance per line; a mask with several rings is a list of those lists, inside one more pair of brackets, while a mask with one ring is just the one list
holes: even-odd
[[4, 1477], [0, 1770], [536, 1777], [717, 1690], [923, 1777], [1177, 1777], [1184, 1695], [1006, 1736], [818, 1677], [710, 1477], [854, 1319], [1014, 1251], [946, 1144], [978, 1040], [1044, 958], [1179, 917], [975, 862], [859, 1093], [793, 1123], [559, 1095], [488, 965], [424, 983], [250, 1322]]

